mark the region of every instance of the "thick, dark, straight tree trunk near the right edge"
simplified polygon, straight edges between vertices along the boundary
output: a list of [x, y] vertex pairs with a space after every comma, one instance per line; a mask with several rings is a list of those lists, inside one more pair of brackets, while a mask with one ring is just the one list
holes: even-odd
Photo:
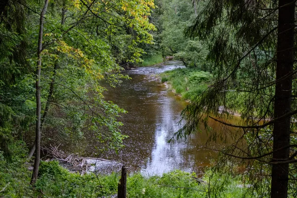
[[[279, 0], [274, 118], [291, 111], [294, 21], [295, 1]], [[288, 116], [274, 123], [273, 150], [290, 145], [290, 120], [291, 117]], [[286, 148], [274, 152], [273, 159], [288, 158], [289, 151], [290, 149]], [[288, 163], [272, 165], [271, 198], [288, 197], [288, 173]]]

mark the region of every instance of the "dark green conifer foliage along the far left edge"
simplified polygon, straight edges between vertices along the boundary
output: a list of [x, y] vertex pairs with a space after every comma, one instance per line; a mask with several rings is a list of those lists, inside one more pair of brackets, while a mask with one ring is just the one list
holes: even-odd
[[14, 150], [13, 138], [23, 140], [23, 131], [35, 119], [24, 104], [32, 86], [26, 83], [30, 67], [26, 61], [28, 40], [23, 3], [20, 0], [0, 4], [0, 149], [8, 161]]

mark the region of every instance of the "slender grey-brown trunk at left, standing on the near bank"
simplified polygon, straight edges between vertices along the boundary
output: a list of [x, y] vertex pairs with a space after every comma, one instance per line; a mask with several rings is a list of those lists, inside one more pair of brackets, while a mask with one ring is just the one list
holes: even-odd
[[41, 77], [41, 63], [42, 63], [42, 40], [43, 40], [43, 28], [44, 28], [44, 15], [46, 14], [48, 8], [49, 0], [45, 0], [44, 8], [40, 14], [40, 25], [39, 25], [39, 37], [38, 37], [38, 49], [37, 49], [37, 68], [36, 68], [36, 138], [35, 138], [35, 145], [36, 145], [36, 152], [35, 152], [35, 162], [34, 162], [34, 169], [31, 179], [31, 184], [35, 184], [37, 176], [38, 176], [38, 169], [40, 163], [40, 139], [41, 139], [41, 94], [40, 94], [40, 77]]

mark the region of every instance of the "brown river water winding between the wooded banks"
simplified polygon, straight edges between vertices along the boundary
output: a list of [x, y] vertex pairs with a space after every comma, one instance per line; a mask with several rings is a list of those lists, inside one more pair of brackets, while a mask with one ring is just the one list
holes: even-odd
[[[108, 92], [103, 94], [105, 99], [128, 111], [120, 121], [124, 124], [122, 133], [129, 138], [124, 140], [125, 148], [118, 154], [111, 151], [96, 154], [97, 143], [92, 137], [87, 137], [81, 144], [68, 145], [67, 149], [82, 156], [115, 161], [98, 162], [97, 168], [103, 173], [118, 171], [121, 164], [125, 164], [130, 172], [140, 171], [148, 176], [174, 169], [203, 172], [218, 155], [209, 148], [221, 149], [225, 144], [216, 141], [206, 145], [208, 136], [203, 128], [187, 140], [168, 143], [183, 125], [178, 122], [187, 103], [168, 92], [166, 85], [156, 80], [155, 74], [178, 67], [184, 66], [178, 61], [168, 61], [161, 66], [125, 71], [132, 80], [125, 80], [116, 88], [107, 88]], [[209, 125], [214, 130], [221, 130], [219, 123], [209, 122]]]

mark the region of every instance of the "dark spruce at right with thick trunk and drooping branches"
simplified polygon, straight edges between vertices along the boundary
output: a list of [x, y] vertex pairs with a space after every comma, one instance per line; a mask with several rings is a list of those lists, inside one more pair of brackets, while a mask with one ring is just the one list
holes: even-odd
[[[296, 180], [293, 173], [297, 162], [293, 138], [297, 113], [296, 1], [199, 3], [204, 4], [204, 10], [186, 35], [207, 39], [215, 79], [183, 111], [187, 124], [176, 135], [189, 135], [201, 124], [207, 125], [208, 119], [241, 129], [234, 137], [236, 143], [222, 152], [241, 160], [251, 172], [260, 171], [260, 179], [271, 180], [267, 187], [271, 189], [271, 198], [286, 198], [288, 182], [293, 185]], [[219, 107], [224, 109], [222, 114], [218, 113]], [[239, 109], [244, 124], [230, 124], [230, 112]], [[211, 132], [213, 139], [216, 135]], [[293, 189], [290, 193], [296, 195]], [[266, 196], [265, 192], [262, 195]]]

